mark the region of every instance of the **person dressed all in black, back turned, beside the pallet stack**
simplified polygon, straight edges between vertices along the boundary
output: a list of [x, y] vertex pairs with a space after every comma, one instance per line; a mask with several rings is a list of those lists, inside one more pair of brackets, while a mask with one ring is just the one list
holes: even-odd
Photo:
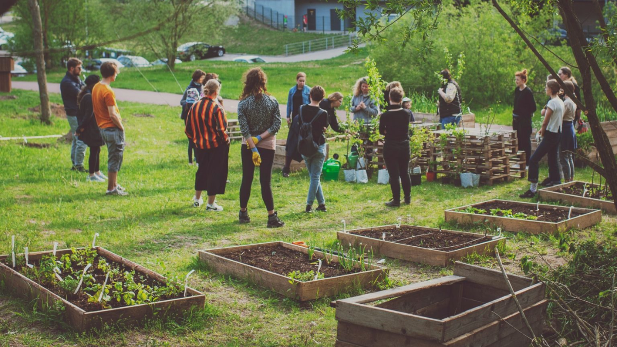
[[400, 206], [401, 186], [404, 203], [410, 204], [412, 199], [412, 180], [409, 177], [409, 123], [412, 122], [412, 112], [401, 106], [403, 96], [405, 93], [401, 88], [392, 88], [389, 95], [391, 105], [379, 117], [379, 133], [385, 136], [384, 162], [392, 190], [392, 199], [386, 203], [388, 207]]

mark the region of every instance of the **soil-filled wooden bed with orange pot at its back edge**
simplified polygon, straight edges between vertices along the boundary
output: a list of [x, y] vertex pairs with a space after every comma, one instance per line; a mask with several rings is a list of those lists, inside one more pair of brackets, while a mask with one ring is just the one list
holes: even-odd
[[[199, 251], [199, 259], [215, 272], [249, 280], [299, 301], [337, 295], [358, 286], [367, 288], [388, 273], [387, 268], [358, 261], [345, 269], [341, 264], [349, 259], [319, 251], [309, 259], [309, 249], [283, 241], [207, 249]], [[317, 259], [321, 259], [319, 272], [324, 278], [301, 281], [289, 277], [293, 271], [317, 274]]]

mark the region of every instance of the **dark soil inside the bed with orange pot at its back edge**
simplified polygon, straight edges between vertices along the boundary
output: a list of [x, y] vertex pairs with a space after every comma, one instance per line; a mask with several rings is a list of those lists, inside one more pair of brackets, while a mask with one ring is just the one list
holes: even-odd
[[[222, 256], [283, 276], [288, 276], [289, 272], [293, 271], [309, 272], [313, 270], [317, 272], [318, 267], [317, 256], [313, 256], [313, 260], [310, 260], [308, 254], [280, 245], [257, 246], [233, 251], [232, 253], [227, 253]], [[330, 262], [330, 264], [328, 264], [326, 259], [321, 258], [321, 270], [319, 272], [323, 274], [325, 278], [328, 278], [355, 274], [356, 272], [360, 272], [360, 269], [347, 271], [337, 262]]]

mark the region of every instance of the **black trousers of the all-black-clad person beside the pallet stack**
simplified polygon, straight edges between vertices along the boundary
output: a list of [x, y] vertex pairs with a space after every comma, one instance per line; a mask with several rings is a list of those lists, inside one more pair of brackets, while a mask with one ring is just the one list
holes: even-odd
[[390, 175], [392, 199], [395, 201], [400, 201], [401, 185], [405, 197], [410, 196], [412, 191], [412, 180], [409, 178], [409, 157], [408, 141], [402, 143], [388, 143], [386, 141], [384, 144], [384, 162], [386, 162], [387, 173]]

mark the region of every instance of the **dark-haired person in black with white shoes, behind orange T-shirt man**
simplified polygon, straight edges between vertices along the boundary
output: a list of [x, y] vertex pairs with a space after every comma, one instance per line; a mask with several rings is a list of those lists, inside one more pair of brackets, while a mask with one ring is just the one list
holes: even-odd
[[78, 127], [75, 133], [78, 134], [80, 141], [83, 141], [90, 148], [88, 157], [88, 180], [90, 182], [105, 182], [107, 176], [100, 170], [101, 146], [104, 144], [101, 138], [99, 126], [96, 125], [94, 109], [92, 106], [92, 88], [99, 83], [101, 78], [98, 75], [89, 75], [86, 78], [86, 85], [77, 94], [79, 112], [77, 113]]

